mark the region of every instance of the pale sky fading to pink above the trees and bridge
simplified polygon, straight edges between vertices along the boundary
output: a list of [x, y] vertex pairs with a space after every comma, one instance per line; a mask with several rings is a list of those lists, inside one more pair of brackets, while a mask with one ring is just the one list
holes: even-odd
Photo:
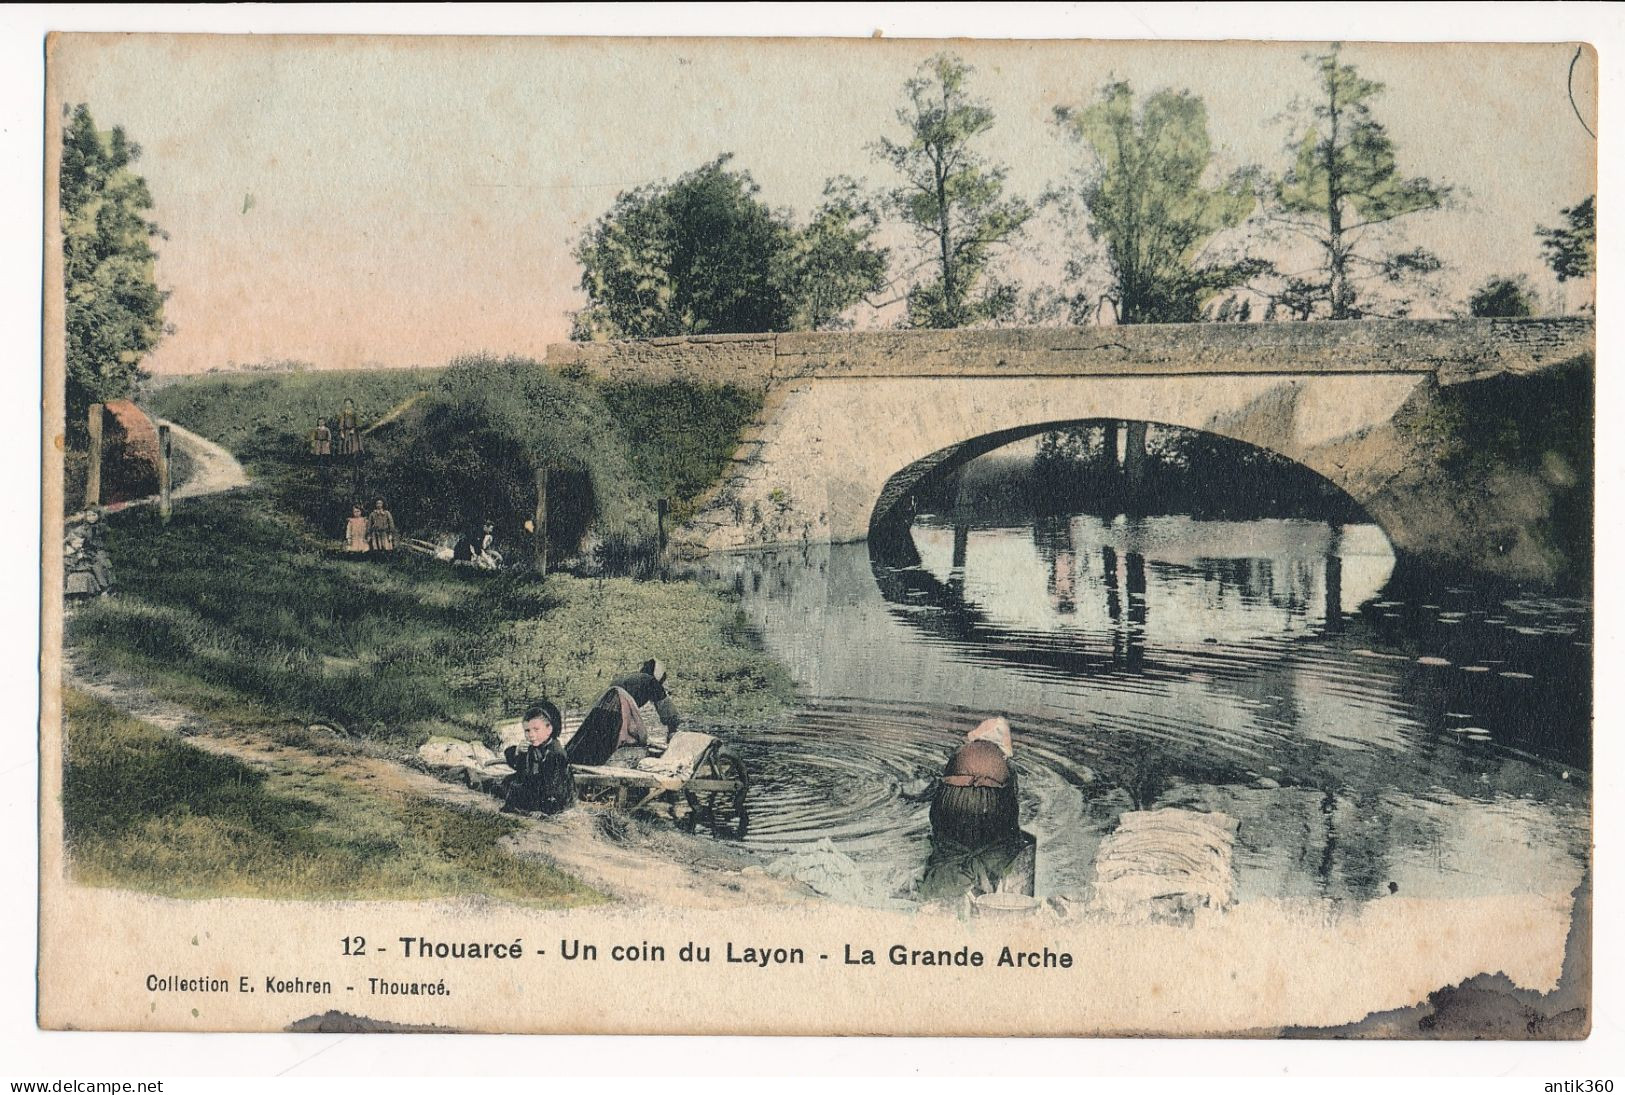
[[[86, 102], [141, 145], [158, 278], [174, 327], [146, 367], [198, 372], [541, 356], [582, 305], [572, 244], [616, 193], [718, 153], [798, 216], [829, 175], [894, 179], [902, 84], [941, 42], [892, 39], [457, 39], [63, 36], [47, 110]], [[1126, 78], [1207, 104], [1216, 167], [1280, 171], [1303, 44], [954, 42], [996, 125], [982, 151], [1035, 198], [1082, 164], [1050, 122]], [[1537, 224], [1594, 192], [1596, 145], [1568, 97], [1573, 45], [1350, 44], [1404, 174], [1458, 187], [1407, 236], [1450, 266], [1454, 302], [1490, 275], [1545, 294]], [[1592, 54], [1575, 96], [1596, 128]], [[907, 244], [899, 234], [887, 242]], [[1040, 224], [1012, 260], [1055, 276]], [[1580, 297], [1566, 294], [1566, 307]], [[860, 323], [886, 322], [861, 315]]]

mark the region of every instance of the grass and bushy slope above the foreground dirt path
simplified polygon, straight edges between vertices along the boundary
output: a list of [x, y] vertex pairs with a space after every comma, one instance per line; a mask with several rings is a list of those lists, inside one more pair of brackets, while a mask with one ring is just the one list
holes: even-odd
[[[344, 398], [362, 424], [416, 400], [367, 439], [354, 473], [307, 458], [307, 431]], [[444, 370], [211, 375], [172, 382], [148, 405], [236, 452], [260, 483], [188, 500], [167, 526], [148, 513], [114, 520], [120, 593], [86, 606], [72, 640], [171, 699], [255, 725], [336, 721], [401, 744], [447, 723], [512, 716], [540, 694], [582, 707], [656, 655], [686, 713], [702, 720], [769, 716], [793, 699], [786, 673], [743, 637], [733, 604], [692, 583], [543, 582], [336, 551], [353, 496], [374, 497], [380, 484], [393, 484], [387, 497], [408, 535], [439, 531], [436, 522], [458, 528], [410, 486], [408, 465], [496, 460], [494, 444], [471, 442], [474, 427], [554, 465], [575, 453], [596, 478], [601, 535], [647, 533], [655, 497], [682, 520], [726, 466], [759, 393], [606, 385], [481, 357]], [[444, 416], [463, 427], [424, 445]], [[510, 530], [499, 539], [522, 544]]]

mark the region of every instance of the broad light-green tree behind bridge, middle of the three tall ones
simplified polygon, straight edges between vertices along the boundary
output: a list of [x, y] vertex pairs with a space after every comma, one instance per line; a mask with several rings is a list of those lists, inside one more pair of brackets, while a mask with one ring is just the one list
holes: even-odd
[[1256, 276], [1256, 260], [1212, 262], [1209, 242], [1258, 205], [1248, 177], [1207, 187], [1207, 109], [1188, 91], [1157, 91], [1134, 109], [1126, 81], [1107, 84], [1082, 109], [1056, 107], [1055, 123], [1084, 145], [1092, 167], [1076, 193], [1089, 236], [1105, 244], [1108, 299], [1118, 323], [1190, 323], [1209, 297]]

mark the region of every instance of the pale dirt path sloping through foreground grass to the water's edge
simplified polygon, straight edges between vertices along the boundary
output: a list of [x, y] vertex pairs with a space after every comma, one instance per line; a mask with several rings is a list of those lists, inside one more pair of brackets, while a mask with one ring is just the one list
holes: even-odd
[[[497, 812], [491, 794], [437, 780], [403, 760], [379, 755], [362, 744], [335, 739], [333, 749], [315, 752], [200, 716], [171, 703], [133, 677], [86, 663], [63, 651], [63, 682], [143, 721], [185, 738], [206, 752], [234, 757], [257, 768], [325, 773], [369, 794], [421, 796], [468, 809]], [[556, 817], [520, 817], [520, 832], [502, 846], [520, 858], [536, 858], [593, 889], [630, 905], [676, 908], [731, 908], [785, 905], [817, 900], [796, 882], [746, 872], [734, 866], [696, 863], [692, 845], [658, 820], [642, 820], [600, 807], [577, 807]]]

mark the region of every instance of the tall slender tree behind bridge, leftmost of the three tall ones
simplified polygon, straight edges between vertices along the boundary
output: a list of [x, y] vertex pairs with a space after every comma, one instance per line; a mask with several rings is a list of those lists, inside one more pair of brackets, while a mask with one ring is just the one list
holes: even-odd
[[1032, 208], [1006, 198], [1006, 169], [972, 148], [993, 128], [993, 110], [968, 94], [972, 71], [951, 54], [926, 60], [904, 83], [908, 102], [897, 120], [907, 136], [882, 136], [873, 149], [904, 177], [887, 205], [920, 240], [921, 266], [934, 268], [934, 276], [908, 289], [910, 327], [967, 327], [999, 318], [1017, 302], [1016, 286], [986, 275], [998, 252], [1020, 236]]

